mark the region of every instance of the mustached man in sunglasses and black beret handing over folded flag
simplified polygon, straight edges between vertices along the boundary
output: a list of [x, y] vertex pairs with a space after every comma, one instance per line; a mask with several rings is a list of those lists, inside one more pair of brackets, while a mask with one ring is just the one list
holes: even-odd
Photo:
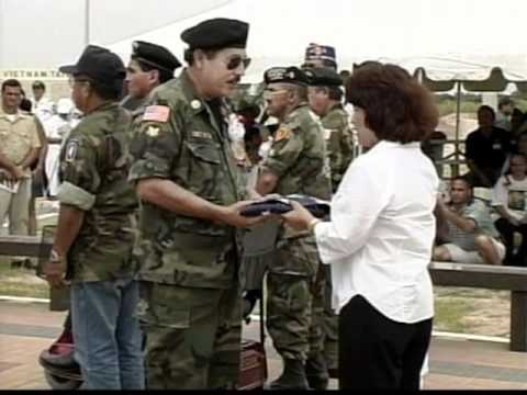
[[155, 90], [134, 128], [148, 388], [234, 388], [238, 379], [236, 228], [257, 219], [239, 215], [246, 192], [224, 98], [248, 66], [247, 34], [227, 19], [186, 30], [189, 66]]

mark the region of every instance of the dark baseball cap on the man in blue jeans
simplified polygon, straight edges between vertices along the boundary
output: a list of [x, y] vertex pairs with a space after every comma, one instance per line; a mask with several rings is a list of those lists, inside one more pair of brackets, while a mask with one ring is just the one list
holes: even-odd
[[61, 66], [58, 69], [64, 74], [86, 75], [94, 81], [106, 86], [121, 83], [126, 77], [123, 61], [106, 48], [88, 45], [76, 65]]

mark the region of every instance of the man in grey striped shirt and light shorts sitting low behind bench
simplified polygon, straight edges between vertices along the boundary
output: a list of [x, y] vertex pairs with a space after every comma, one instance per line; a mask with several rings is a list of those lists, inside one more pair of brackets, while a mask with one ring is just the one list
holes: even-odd
[[450, 202], [438, 198], [438, 240], [434, 260], [501, 264], [505, 246], [498, 240], [489, 207], [473, 199], [473, 189], [463, 177], [450, 184]]

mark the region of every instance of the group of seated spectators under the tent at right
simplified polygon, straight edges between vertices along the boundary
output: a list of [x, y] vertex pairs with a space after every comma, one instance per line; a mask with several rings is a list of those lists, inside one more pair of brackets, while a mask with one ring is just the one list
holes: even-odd
[[497, 114], [481, 105], [478, 123], [466, 139], [469, 172], [450, 180], [436, 211], [434, 259], [525, 267], [527, 120], [505, 97]]

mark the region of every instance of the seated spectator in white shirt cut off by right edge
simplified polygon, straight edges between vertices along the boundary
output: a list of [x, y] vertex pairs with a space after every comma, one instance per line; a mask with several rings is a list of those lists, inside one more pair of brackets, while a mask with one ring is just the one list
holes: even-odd
[[[527, 252], [527, 158], [515, 154], [511, 168], [500, 178], [493, 190], [492, 205], [500, 214], [495, 226], [505, 242], [505, 263], [525, 266]], [[518, 253], [514, 253], [514, 233], [522, 234]]]

